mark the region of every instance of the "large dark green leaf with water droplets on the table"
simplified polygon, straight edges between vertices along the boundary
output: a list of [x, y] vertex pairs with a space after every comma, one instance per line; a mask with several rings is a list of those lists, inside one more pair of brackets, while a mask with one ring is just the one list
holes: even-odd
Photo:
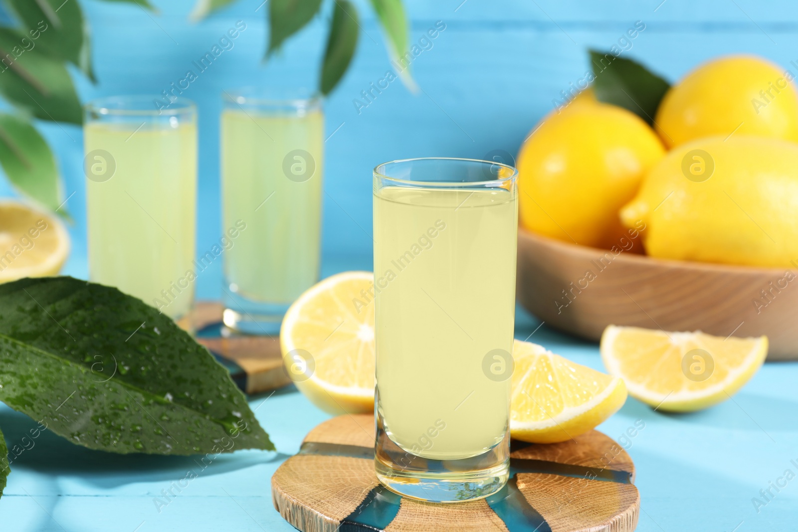
[[8, 406], [92, 449], [274, 449], [207, 349], [110, 286], [70, 277], [0, 285], [0, 384]]

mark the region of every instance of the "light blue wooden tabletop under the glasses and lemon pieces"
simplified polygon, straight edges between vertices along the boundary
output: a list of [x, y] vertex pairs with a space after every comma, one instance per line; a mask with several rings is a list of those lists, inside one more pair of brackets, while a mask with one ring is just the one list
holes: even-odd
[[[325, 274], [368, 266], [367, 258], [330, 259]], [[538, 325], [519, 311], [516, 337], [529, 337]], [[596, 345], [546, 325], [529, 340], [602, 369]], [[798, 479], [779, 492], [772, 490], [775, 496], [759, 513], [751, 501], [761, 499], [760, 490], [768, 490], [785, 470], [798, 473], [796, 381], [798, 363], [770, 363], [733, 400], [704, 412], [664, 414], [630, 398], [600, 425], [599, 430], [618, 439], [638, 420], [645, 423], [626, 444], [642, 498], [638, 530], [796, 530]], [[205, 469], [192, 458], [111, 455], [43, 433], [12, 464], [0, 499], [0, 530], [294, 530], [272, 506], [271, 475], [298, 451], [304, 435], [329, 416], [293, 385], [250, 399], [278, 452], [220, 455]], [[30, 418], [0, 407], [0, 427], [10, 445], [35, 426]], [[186, 485], [188, 471], [197, 478]]]

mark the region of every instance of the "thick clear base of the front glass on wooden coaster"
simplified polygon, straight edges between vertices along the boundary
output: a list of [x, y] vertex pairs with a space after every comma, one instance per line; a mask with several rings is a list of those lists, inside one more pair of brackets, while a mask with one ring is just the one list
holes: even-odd
[[427, 502], [484, 499], [510, 476], [510, 435], [492, 449], [464, 459], [429, 459], [399, 447], [377, 415], [374, 468], [383, 486], [403, 497]]

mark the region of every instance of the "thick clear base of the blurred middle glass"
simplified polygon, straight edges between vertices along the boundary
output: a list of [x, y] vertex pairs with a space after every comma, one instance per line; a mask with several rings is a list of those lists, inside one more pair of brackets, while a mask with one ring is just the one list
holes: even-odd
[[239, 333], [275, 335], [280, 333], [282, 317], [290, 303], [253, 301], [235, 293], [235, 285], [224, 286], [222, 303], [224, 325]]

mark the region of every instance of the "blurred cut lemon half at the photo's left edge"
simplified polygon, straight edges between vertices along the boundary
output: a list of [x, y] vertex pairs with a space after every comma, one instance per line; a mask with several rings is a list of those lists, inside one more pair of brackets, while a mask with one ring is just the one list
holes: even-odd
[[57, 218], [0, 202], [0, 282], [56, 275], [67, 255], [69, 234]]

